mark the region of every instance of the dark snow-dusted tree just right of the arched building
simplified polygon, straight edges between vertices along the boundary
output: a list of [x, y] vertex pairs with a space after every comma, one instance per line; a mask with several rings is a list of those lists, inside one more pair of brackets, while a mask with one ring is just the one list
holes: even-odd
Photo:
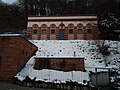
[[99, 30], [105, 39], [120, 40], [120, 19], [111, 13], [105, 13], [99, 21]]

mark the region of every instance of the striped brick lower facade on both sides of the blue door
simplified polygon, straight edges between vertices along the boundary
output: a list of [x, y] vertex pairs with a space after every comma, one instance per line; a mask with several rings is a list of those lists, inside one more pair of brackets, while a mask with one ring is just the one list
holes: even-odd
[[[33, 40], [59, 40], [60, 39], [60, 29], [56, 28], [55, 34], [48, 33], [50, 32], [50, 29], [46, 29], [46, 34], [39, 33], [42, 30], [37, 29], [37, 33], [34, 34], [31, 27], [28, 27], [27, 34], [33, 39]], [[96, 28], [92, 28], [92, 32], [88, 33], [87, 29], [82, 29], [82, 33], [79, 33], [77, 29], [73, 29], [74, 32], [72, 34], [69, 34], [69, 29], [66, 27], [64, 29], [64, 40], [96, 40], [99, 39], [99, 30]]]

